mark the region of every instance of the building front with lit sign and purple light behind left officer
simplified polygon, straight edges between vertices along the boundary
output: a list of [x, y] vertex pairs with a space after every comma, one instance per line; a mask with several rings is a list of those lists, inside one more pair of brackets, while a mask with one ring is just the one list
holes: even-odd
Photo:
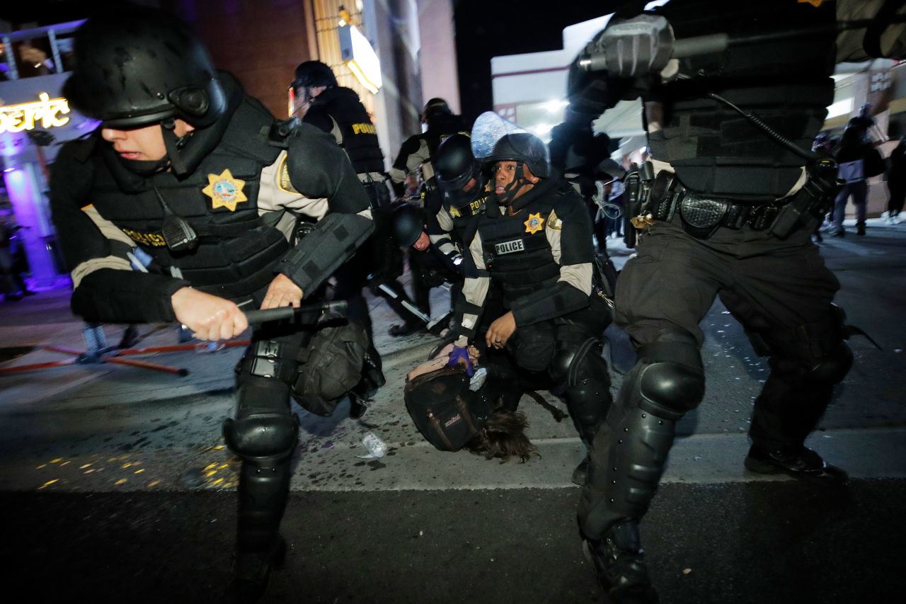
[[[420, 131], [431, 97], [459, 106], [450, 0], [144, 0], [178, 16], [280, 118], [289, 114], [295, 67], [320, 60], [361, 97], [377, 126], [387, 166]], [[86, 5], [85, 17], [92, 6]], [[64, 271], [47, 209], [47, 169], [59, 144], [97, 122], [70, 111], [61, 93], [72, 68], [72, 35], [82, 20], [43, 27], [0, 21], [0, 212], [24, 233], [36, 287]], [[425, 69], [428, 65], [429, 69]], [[446, 75], [445, 75], [446, 74]], [[41, 134], [41, 132], [45, 132]], [[53, 141], [48, 137], [53, 135]]]

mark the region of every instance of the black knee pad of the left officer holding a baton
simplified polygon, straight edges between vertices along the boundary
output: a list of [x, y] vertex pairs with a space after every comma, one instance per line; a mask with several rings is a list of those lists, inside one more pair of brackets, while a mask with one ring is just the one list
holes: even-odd
[[289, 410], [289, 386], [274, 378], [250, 378], [239, 386], [236, 419], [224, 422], [224, 439], [240, 457], [288, 457], [299, 434]]

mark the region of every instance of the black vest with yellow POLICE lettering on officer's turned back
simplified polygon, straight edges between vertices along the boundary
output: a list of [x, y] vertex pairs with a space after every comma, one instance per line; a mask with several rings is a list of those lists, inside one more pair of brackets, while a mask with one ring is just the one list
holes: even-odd
[[[328, 88], [319, 94], [312, 108], [312, 117], [330, 116], [340, 126], [342, 148], [356, 173], [384, 171], [384, 154], [378, 142], [378, 131], [371, 116], [359, 101], [359, 95], [342, 86]], [[306, 113], [306, 118], [309, 114]]]

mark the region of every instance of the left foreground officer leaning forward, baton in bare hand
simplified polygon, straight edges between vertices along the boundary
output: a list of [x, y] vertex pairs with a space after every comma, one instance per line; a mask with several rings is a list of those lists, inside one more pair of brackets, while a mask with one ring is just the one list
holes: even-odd
[[[368, 196], [333, 139], [280, 127], [176, 19], [141, 8], [92, 18], [75, 54], [65, 95], [101, 126], [60, 151], [51, 199], [85, 320], [178, 321], [199, 339], [231, 338], [247, 326], [240, 305], [298, 307], [371, 233]], [[291, 245], [295, 215], [317, 224]], [[130, 267], [137, 247], [153, 258], [148, 272]], [[258, 599], [284, 557], [291, 384], [311, 333], [265, 323], [237, 367], [224, 425], [243, 460], [234, 601]]]

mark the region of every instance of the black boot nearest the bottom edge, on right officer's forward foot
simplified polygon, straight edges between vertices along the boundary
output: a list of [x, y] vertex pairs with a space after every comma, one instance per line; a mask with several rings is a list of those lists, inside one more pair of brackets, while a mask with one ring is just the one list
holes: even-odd
[[639, 541], [639, 525], [627, 520], [614, 524], [602, 540], [586, 539], [585, 558], [612, 604], [657, 604]]

